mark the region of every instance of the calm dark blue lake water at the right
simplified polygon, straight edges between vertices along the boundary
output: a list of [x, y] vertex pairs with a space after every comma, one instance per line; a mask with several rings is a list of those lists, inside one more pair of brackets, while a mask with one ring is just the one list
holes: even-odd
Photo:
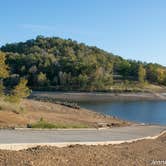
[[136, 101], [112, 103], [81, 103], [84, 108], [106, 115], [113, 115], [121, 119], [166, 125], [165, 101]]

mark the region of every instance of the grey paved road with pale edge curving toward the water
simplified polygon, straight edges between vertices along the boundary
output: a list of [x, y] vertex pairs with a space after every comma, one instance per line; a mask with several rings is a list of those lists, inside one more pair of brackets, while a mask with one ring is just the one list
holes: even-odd
[[37, 145], [63, 147], [72, 144], [98, 145], [155, 138], [166, 126], [136, 125], [111, 129], [0, 130], [0, 149], [20, 150]]

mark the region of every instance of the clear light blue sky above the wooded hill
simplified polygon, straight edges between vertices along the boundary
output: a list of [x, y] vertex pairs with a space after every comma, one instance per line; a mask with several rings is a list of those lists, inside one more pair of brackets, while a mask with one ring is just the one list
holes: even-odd
[[0, 1], [0, 46], [37, 35], [166, 66], [166, 0]]

